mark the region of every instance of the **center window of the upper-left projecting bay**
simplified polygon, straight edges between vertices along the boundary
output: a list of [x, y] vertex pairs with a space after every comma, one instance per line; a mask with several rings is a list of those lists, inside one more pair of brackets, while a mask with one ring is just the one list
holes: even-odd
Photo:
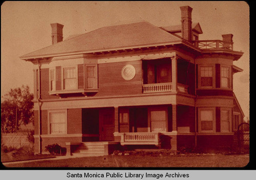
[[63, 89], [77, 89], [76, 67], [63, 68]]

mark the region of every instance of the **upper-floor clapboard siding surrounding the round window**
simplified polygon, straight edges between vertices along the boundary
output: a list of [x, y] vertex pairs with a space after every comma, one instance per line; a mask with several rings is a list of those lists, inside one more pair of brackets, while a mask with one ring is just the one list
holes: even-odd
[[[132, 80], [122, 78], [123, 66], [131, 64], [136, 69]], [[142, 61], [98, 64], [99, 92], [95, 96], [131, 95], [142, 93]]]

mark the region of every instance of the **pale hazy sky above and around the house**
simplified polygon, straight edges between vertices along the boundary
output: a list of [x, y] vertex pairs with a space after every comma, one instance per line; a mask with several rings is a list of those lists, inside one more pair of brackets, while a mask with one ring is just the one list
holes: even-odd
[[[1, 96], [28, 85], [33, 92], [33, 65], [19, 57], [51, 45], [50, 23], [64, 25], [63, 39], [108, 25], [138, 20], [158, 27], [181, 23], [180, 6], [190, 6], [192, 22], [203, 31], [199, 40], [222, 40], [233, 34], [233, 50], [244, 55], [233, 76], [245, 118], [249, 117], [249, 6], [245, 2], [4, 2], [1, 6]], [[1, 98], [2, 99], [2, 98]]]

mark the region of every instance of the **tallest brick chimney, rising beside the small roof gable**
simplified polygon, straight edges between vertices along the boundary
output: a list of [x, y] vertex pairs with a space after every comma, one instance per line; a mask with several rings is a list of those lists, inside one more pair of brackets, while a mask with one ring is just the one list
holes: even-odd
[[181, 37], [192, 41], [192, 8], [189, 6], [180, 7], [181, 10]]

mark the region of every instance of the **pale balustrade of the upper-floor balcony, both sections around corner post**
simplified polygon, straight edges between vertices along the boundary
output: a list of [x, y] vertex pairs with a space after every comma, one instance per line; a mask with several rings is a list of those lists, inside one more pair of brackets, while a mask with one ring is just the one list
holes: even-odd
[[[187, 93], [187, 85], [177, 84], [178, 91]], [[172, 83], [156, 83], [156, 84], [143, 84], [143, 93], [153, 92], [171, 92], [173, 90]]]

